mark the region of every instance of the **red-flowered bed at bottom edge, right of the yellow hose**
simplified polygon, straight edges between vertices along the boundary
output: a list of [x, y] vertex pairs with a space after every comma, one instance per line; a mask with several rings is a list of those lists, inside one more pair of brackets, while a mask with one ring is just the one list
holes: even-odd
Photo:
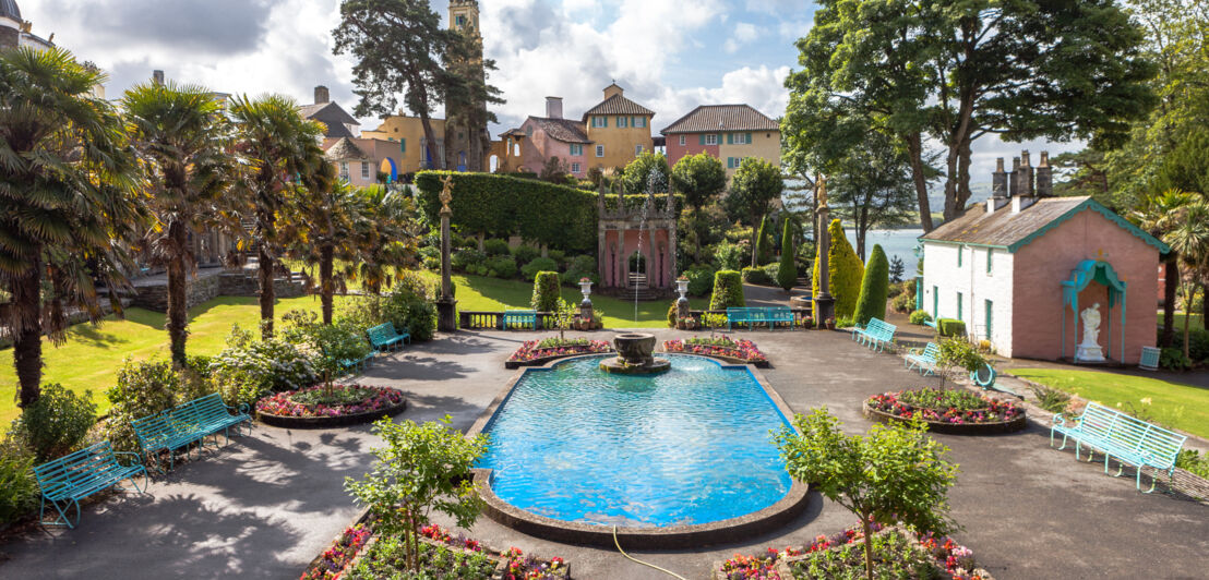
[[[874, 576], [993, 580], [978, 569], [973, 552], [948, 536], [915, 534], [902, 527], [873, 526]], [[820, 535], [806, 546], [760, 556], [735, 555], [713, 566], [715, 580], [789, 580], [794, 578], [864, 578], [864, 533], [850, 528]]]

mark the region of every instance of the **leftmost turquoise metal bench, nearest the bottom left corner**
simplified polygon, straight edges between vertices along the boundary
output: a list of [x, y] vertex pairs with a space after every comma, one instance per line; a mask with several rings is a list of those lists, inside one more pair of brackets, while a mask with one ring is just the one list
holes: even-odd
[[[117, 456], [131, 456], [134, 462], [131, 465], [117, 463]], [[134, 481], [134, 477], [143, 476], [143, 488]], [[46, 504], [51, 504], [59, 517], [47, 526], [66, 526], [75, 528], [80, 523], [80, 500], [92, 494], [103, 492], [111, 487], [117, 487], [123, 480], [129, 480], [137, 492], [146, 492], [147, 471], [139, 463], [137, 453], [115, 452], [109, 441], [85, 447], [74, 453], [68, 453], [53, 462], [47, 462], [34, 468], [34, 477], [37, 487], [42, 491], [42, 506], [39, 510], [39, 518], [46, 515]], [[128, 491], [125, 487], [118, 489]], [[60, 505], [62, 504], [62, 505]], [[68, 511], [75, 507], [75, 518], [68, 516]]]

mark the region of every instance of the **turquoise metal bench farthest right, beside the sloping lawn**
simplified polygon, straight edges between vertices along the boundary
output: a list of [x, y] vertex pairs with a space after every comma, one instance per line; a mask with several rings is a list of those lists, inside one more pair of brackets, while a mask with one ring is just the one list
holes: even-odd
[[[1109, 459], [1116, 459], [1120, 469], [1113, 477], [1120, 477], [1124, 471], [1124, 465], [1129, 464], [1138, 469], [1134, 478], [1134, 487], [1141, 491], [1143, 466], [1150, 466], [1158, 471], [1167, 471], [1168, 486], [1175, 477], [1175, 458], [1184, 447], [1184, 441], [1188, 437], [1161, 427], [1146, 423], [1145, 420], [1130, 417], [1115, 408], [1105, 407], [1097, 402], [1087, 404], [1083, 414], [1068, 419], [1063, 413], [1054, 416], [1053, 427], [1049, 428], [1049, 446], [1054, 445], [1054, 435], [1062, 434], [1062, 447], [1066, 447], [1066, 439], [1075, 440], [1075, 459], [1078, 459], [1080, 448], [1088, 447], [1087, 460], [1095, 458], [1095, 450], [1104, 454], [1104, 472], [1109, 472]], [[1150, 489], [1143, 493], [1151, 493], [1158, 483], [1156, 477], [1151, 477]]]

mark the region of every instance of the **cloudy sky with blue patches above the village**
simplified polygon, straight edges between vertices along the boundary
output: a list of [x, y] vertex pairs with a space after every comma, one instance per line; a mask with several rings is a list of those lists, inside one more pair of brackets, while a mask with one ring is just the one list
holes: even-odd
[[[214, 91], [278, 92], [302, 103], [313, 87], [352, 109], [352, 63], [331, 53], [340, 0], [18, 0], [34, 33], [109, 71], [111, 98], [162, 69], [169, 79]], [[433, 0], [446, 14], [447, 0]], [[480, 0], [491, 82], [507, 104], [501, 126], [544, 114], [562, 97], [578, 117], [615, 80], [626, 97], [656, 112], [661, 129], [699, 104], [747, 103], [771, 117], [785, 112], [783, 81], [797, 65], [796, 39], [815, 6], [802, 0]], [[363, 118], [363, 128], [377, 120]], [[984, 138], [974, 181], [989, 181], [994, 157], [1022, 147]], [[982, 179], [987, 175], [985, 179]]]

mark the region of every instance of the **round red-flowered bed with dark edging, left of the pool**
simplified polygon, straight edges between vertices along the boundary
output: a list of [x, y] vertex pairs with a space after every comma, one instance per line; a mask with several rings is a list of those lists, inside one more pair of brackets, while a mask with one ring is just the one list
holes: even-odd
[[256, 416], [265, 424], [293, 429], [355, 425], [407, 408], [403, 393], [386, 387], [337, 384], [288, 390], [256, 401]]

